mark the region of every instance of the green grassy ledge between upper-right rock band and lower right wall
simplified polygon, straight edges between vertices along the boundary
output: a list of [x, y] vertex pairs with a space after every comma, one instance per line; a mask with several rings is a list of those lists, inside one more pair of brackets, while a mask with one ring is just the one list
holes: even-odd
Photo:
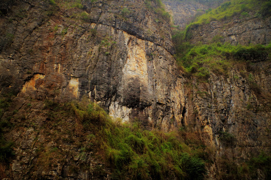
[[271, 44], [231, 45], [222, 36], [215, 36], [208, 44], [192, 45], [186, 41], [185, 31], [175, 30], [172, 36], [176, 59], [188, 75], [208, 80], [209, 71], [226, 75], [234, 63], [270, 59]]

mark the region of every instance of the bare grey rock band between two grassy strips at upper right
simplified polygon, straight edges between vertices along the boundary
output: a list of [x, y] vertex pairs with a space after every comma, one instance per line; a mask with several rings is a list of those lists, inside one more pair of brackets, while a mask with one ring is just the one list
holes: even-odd
[[[208, 43], [216, 39], [232, 45], [268, 44], [271, 41], [271, 17], [234, 16], [228, 20], [211, 21], [195, 25], [189, 31], [192, 43]], [[217, 37], [217, 38], [216, 38]]]

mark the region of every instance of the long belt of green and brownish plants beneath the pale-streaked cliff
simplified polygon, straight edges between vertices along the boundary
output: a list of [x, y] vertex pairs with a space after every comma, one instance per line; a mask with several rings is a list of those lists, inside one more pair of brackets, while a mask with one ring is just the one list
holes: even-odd
[[[156, 129], [145, 130], [136, 121], [121, 123], [120, 119], [112, 120], [101, 107], [86, 99], [66, 104], [47, 101], [44, 109], [50, 111], [50, 124], [59, 121], [59, 118], [75, 119], [74, 133], [81, 134], [84, 143], [66, 142], [78, 143], [81, 160], [84, 159], [83, 153], [94, 150], [112, 168], [112, 179], [204, 178], [206, 168], [203, 159], [209, 157], [205, 155], [201, 140], [192, 132], [180, 130], [166, 133]], [[39, 162], [50, 166], [53, 164], [51, 161], [63, 153], [53, 147], [44, 149], [40, 152], [42, 158]], [[95, 171], [102, 173], [103, 169]]]

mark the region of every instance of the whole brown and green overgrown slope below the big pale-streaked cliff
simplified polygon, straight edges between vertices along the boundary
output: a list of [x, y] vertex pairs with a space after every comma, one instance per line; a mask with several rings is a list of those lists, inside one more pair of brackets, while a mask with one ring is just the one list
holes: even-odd
[[14, 156], [7, 157], [13, 176], [204, 179], [213, 156], [197, 132], [146, 130], [136, 119], [120, 121], [87, 98], [27, 101], [9, 117], [13, 125], [4, 134], [14, 141]]

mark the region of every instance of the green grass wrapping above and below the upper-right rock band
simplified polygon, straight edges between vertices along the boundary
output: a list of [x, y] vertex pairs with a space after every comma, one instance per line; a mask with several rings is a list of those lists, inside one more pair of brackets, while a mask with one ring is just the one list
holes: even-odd
[[176, 47], [177, 62], [188, 74], [208, 80], [210, 70], [226, 75], [228, 69], [237, 61], [270, 58], [271, 44], [233, 46], [227, 42], [221, 43], [222, 36], [215, 36], [209, 44], [193, 45], [187, 42], [190, 29], [196, 26], [209, 23], [211, 20], [230, 18], [237, 14], [246, 15], [251, 11], [262, 16], [270, 15], [271, 8], [269, 7], [271, 7], [271, 1], [268, 0], [231, 0], [216, 9], [207, 10], [205, 14], [188, 24], [184, 31], [174, 29], [172, 38]]

